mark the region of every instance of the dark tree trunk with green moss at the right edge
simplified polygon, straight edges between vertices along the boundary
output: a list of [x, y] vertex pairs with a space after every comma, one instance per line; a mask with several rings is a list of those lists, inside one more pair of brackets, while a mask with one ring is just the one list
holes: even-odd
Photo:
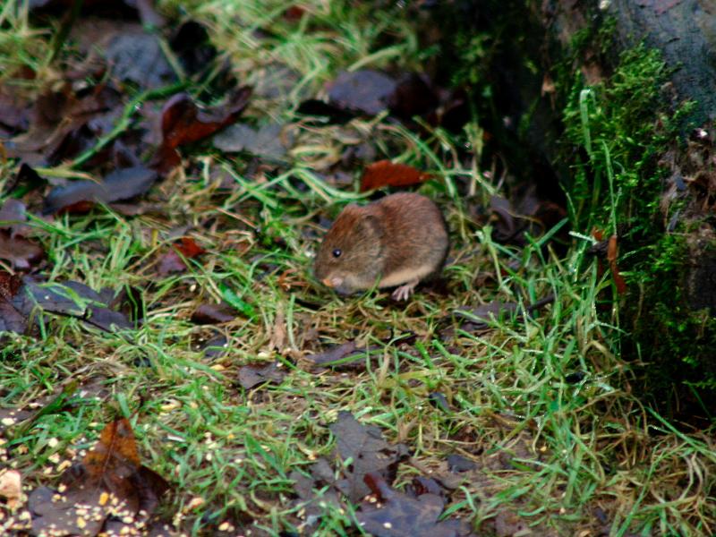
[[716, 0], [474, 7], [472, 29], [497, 36], [478, 107], [499, 150], [582, 202], [578, 231], [617, 232], [624, 352], [652, 364], [651, 396], [713, 414]]

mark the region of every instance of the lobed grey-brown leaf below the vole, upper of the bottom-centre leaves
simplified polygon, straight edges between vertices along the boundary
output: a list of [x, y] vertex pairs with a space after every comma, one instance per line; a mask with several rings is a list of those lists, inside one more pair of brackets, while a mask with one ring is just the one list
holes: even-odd
[[349, 412], [339, 412], [337, 422], [329, 425], [328, 429], [336, 437], [338, 456], [343, 461], [352, 461], [344, 467], [345, 478], [336, 485], [352, 502], [359, 501], [370, 492], [363, 481], [367, 473], [376, 473], [392, 482], [397, 464], [408, 456], [407, 447], [389, 445], [378, 427], [363, 425]]

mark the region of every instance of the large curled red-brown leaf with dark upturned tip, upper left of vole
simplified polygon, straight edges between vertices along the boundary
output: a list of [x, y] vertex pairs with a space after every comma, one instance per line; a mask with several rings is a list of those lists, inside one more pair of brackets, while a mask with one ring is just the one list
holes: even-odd
[[234, 124], [249, 104], [251, 88], [235, 90], [225, 107], [200, 109], [192, 98], [179, 93], [166, 101], [162, 109], [162, 142], [153, 159], [154, 166], [162, 172], [179, 164], [176, 149], [185, 144], [200, 141], [224, 127]]

